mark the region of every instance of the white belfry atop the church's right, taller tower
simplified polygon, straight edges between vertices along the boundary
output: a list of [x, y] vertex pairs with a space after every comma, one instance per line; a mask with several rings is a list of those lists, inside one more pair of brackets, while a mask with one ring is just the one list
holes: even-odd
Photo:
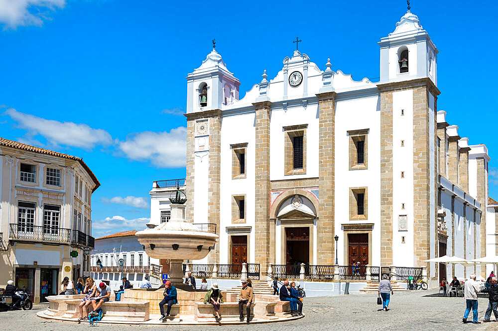
[[409, 10], [387, 37], [381, 38], [380, 83], [430, 78], [437, 86], [437, 53], [417, 15]]

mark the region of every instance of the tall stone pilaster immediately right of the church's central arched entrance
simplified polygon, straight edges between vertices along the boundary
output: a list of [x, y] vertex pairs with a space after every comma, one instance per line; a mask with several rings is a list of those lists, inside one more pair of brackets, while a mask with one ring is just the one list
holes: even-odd
[[336, 92], [316, 95], [319, 102], [318, 138], [318, 217], [317, 264], [332, 264], [335, 261], [335, 111]]

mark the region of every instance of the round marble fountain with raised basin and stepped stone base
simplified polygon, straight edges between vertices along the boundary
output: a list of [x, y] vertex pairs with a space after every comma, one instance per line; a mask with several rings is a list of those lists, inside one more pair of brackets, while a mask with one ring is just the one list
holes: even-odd
[[[183, 284], [182, 262], [199, 260], [215, 248], [218, 235], [201, 231], [185, 221], [185, 195], [179, 189], [170, 197], [171, 219], [157, 227], [138, 231], [135, 235], [144, 246], [145, 252], [154, 258], [169, 259], [169, 280], [177, 288], [178, 304], [172, 306], [171, 316], [159, 321], [159, 302], [164, 288], [126, 289], [121, 301], [106, 302], [102, 309], [104, 317], [99, 323], [143, 324], [143, 325], [203, 325], [243, 324], [239, 321], [238, 295], [222, 291], [225, 303], [220, 307], [222, 320], [215, 320], [212, 305], [204, 304], [205, 290], [194, 290]], [[182, 196], [183, 195], [183, 196]], [[48, 309], [38, 312], [44, 319], [77, 322], [80, 317], [78, 305], [84, 295], [49, 296]], [[251, 305], [251, 323], [288, 321], [292, 317], [288, 302], [281, 302], [278, 296], [255, 294]]]

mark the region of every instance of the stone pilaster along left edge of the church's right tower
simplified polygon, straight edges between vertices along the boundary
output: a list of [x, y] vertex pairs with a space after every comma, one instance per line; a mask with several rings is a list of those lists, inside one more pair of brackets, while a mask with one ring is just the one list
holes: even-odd
[[[392, 264], [392, 90], [380, 90], [380, 264]], [[415, 145], [415, 141], [414, 141]], [[380, 277], [380, 274], [379, 274]]]

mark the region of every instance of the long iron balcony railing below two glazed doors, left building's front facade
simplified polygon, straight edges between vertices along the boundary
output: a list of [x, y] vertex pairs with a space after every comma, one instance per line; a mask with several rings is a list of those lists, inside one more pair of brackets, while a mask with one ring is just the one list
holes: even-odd
[[9, 238], [13, 240], [70, 243], [71, 229], [9, 224]]

